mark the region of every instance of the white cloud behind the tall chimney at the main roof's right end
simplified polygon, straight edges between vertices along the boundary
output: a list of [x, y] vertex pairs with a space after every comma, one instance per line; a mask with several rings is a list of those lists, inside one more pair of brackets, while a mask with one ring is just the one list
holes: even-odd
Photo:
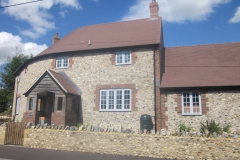
[[[182, 23], [186, 21], [202, 21], [214, 13], [214, 8], [231, 0], [157, 0], [159, 15], [164, 21]], [[149, 3], [151, 0], [137, 0], [130, 7], [122, 20], [150, 17]]]

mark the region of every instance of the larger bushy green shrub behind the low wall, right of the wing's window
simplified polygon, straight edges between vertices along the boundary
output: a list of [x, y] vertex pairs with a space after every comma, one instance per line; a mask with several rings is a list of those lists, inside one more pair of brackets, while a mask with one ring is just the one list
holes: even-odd
[[[206, 133], [208, 131], [208, 134]], [[202, 134], [207, 134], [206, 136], [209, 137], [210, 135], [213, 135], [214, 132], [217, 134], [222, 134], [222, 128], [219, 123], [216, 123], [214, 120], [211, 120], [210, 122], [206, 120], [206, 123], [201, 122], [200, 132]]]

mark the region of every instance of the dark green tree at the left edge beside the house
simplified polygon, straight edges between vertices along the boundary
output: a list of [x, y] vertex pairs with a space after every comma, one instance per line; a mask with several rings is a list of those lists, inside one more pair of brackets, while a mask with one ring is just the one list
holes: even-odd
[[[16, 55], [14, 57], [8, 57], [8, 62], [3, 66], [3, 71], [0, 72], [0, 79], [1, 79], [0, 87], [3, 88], [3, 90], [1, 90], [3, 93], [1, 93], [1, 94], [4, 94], [5, 99], [7, 99], [8, 105], [12, 105], [12, 101], [13, 101], [14, 86], [15, 86], [14, 73], [28, 59], [29, 59], [28, 56], [21, 54], [21, 51], [19, 51], [16, 48]], [[2, 99], [0, 99], [0, 101], [2, 101]], [[3, 101], [3, 104], [4, 104], [4, 102], [5, 101]], [[2, 107], [2, 106], [0, 106], [0, 107]], [[7, 105], [5, 107], [7, 107]], [[0, 110], [0, 112], [1, 112], [1, 110]]]

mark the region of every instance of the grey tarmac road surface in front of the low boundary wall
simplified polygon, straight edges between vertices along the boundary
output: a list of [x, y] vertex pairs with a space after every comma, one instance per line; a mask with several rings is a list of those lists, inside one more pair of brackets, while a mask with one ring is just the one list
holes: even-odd
[[0, 160], [167, 160], [0, 145]]

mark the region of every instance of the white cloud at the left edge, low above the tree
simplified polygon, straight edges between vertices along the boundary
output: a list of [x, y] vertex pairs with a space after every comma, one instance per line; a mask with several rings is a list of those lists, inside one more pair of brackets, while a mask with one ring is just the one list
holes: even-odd
[[36, 43], [23, 43], [19, 36], [14, 36], [11, 33], [0, 32], [0, 65], [7, 62], [7, 57], [14, 56], [16, 48], [24, 55], [39, 54], [47, 48], [46, 44], [38, 45]]

